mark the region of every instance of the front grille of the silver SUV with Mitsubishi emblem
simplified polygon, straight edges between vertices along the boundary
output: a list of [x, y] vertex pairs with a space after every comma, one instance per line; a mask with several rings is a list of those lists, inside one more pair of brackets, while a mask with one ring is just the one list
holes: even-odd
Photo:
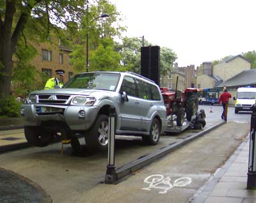
[[66, 103], [70, 95], [67, 94], [38, 94], [38, 103]]

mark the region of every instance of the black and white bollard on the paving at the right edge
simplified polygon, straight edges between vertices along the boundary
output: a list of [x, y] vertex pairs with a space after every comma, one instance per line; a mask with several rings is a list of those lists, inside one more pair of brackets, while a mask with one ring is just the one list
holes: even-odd
[[256, 131], [256, 104], [254, 104], [252, 106], [249, 165], [248, 165], [248, 174], [247, 174], [247, 189], [256, 189], [255, 131]]

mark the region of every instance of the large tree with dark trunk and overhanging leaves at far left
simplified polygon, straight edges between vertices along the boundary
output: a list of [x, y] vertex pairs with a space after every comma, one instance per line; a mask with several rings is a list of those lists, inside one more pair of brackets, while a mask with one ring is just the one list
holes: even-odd
[[[67, 26], [72, 19], [79, 22], [84, 11], [84, 0], [6, 0], [0, 2], [0, 92], [10, 95], [13, 73], [13, 56], [19, 40], [46, 40], [51, 32], [61, 31], [58, 26]], [[57, 26], [58, 25], [58, 26]], [[36, 33], [36, 34], [35, 34]], [[63, 35], [62, 35], [63, 37]], [[15, 56], [20, 61], [19, 56]], [[18, 66], [17, 66], [18, 68]]]

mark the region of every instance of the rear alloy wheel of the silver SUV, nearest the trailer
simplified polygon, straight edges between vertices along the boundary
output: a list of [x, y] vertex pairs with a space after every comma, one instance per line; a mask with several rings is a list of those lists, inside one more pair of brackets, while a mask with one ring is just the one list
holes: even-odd
[[159, 142], [160, 133], [159, 121], [154, 118], [150, 127], [149, 135], [143, 135], [142, 140], [145, 144], [156, 145]]

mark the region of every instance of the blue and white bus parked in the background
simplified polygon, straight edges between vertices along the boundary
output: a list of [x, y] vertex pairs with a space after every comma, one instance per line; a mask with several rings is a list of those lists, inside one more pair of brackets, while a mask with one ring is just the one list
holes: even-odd
[[220, 96], [220, 89], [216, 88], [204, 88], [204, 89], [198, 89], [200, 92], [199, 94], [199, 103], [200, 104], [211, 104], [214, 105], [214, 103], [218, 104], [218, 99]]

